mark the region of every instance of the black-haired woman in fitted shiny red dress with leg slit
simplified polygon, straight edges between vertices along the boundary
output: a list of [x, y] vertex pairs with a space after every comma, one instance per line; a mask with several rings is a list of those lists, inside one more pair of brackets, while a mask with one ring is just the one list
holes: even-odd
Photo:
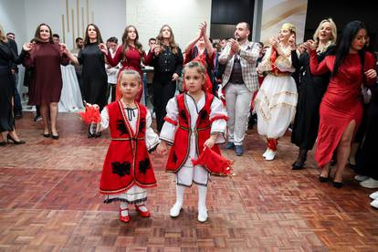
[[333, 185], [341, 187], [342, 172], [351, 152], [351, 142], [362, 120], [361, 86], [373, 85], [377, 73], [375, 58], [362, 50], [367, 37], [360, 21], [347, 24], [341, 33], [334, 55], [318, 63], [316, 43], [309, 40], [310, 69], [314, 75], [331, 71], [328, 89], [320, 103], [320, 125], [315, 159], [321, 173], [320, 182], [330, 174], [332, 153], [337, 148], [337, 168]]

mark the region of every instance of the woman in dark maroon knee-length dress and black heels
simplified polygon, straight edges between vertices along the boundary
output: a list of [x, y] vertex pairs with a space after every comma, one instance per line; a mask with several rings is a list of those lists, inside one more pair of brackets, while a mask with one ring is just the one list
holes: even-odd
[[62, 54], [59, 45], [54, 44], [51, 28], [47, 24], [37, 26], [35, 38], [36, 44], [29, 52], [29, 57], [24, 59], [26, 68], [34, 68], [29, 86], [29, 104], [40, 106], [43, 135], [58, 139], [58, 102], [62, 90], [60, 65], [67, 66], [69, 60]]

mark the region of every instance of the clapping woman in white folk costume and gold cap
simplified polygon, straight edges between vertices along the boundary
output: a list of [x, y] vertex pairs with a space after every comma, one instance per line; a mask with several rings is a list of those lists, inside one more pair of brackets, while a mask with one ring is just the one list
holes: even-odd
[[[278, 37], [270, 38], [271, 47], [257, 67], [257, 72], [267, 72], [255, 100], [257, 111], [257, 131], [266, 136], [267, 151], [263, 157], [267, 161], [275, 159], [278, 138], [283, 136], [294, 119], [297, 106], [297, 86], [291, 74], [295, 68], [291, 64], [289, 38], [295, 34], [295, 26], [285, 23]], [[292, 45], [292, 44], [291, 44]]]

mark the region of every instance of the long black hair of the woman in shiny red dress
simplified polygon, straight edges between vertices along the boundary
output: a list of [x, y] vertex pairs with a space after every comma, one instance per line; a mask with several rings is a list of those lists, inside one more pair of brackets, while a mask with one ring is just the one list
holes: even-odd
[[[354, 37], [356, 37], [357, 33], [362, 29], [367, 31], [365, 24], [363, 24], [361, 21], [352, 21], [342, 29], [340, 40], [336, 44], [336, 59], [332, 76], [335, 76], [338, 73], [342, 61], [349, 54]], [[364, 58], [365, 51], [363, 48], [358, 53], [360, 54], [361, 58]]]

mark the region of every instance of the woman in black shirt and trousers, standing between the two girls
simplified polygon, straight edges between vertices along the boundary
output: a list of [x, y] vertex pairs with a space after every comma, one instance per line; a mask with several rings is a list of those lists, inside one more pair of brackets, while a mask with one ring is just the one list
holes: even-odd
[[156, 114], [157, 131], [162, 131], [165, 107], [168, 100], [173, 98], [176, 90], [176, 81], [183, 70], [183, 54], [174, 41], [172, 28], [162, 26], [154, 47], [152, 94], [153, 107]]

